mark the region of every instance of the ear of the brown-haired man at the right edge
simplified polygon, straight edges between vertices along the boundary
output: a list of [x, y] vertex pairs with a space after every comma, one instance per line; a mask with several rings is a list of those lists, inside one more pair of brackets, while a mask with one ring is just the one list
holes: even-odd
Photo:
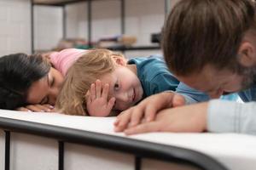
[[256, 65], [256, 48], [251, 42], [241, 42], [238, 49], [238, 56], [241, 65], [251, 67]]

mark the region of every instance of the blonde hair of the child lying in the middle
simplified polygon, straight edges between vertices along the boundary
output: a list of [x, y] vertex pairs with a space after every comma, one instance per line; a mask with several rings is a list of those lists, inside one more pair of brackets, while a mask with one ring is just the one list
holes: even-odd
[[124, 58], [108, 49], [93, 49], [81, 56], [67, 71], [67, 76], [58, 95], [57, 111], [68, 115], [89, 115], [85, 94], [91, 83], [114, 70], [114, 58]]

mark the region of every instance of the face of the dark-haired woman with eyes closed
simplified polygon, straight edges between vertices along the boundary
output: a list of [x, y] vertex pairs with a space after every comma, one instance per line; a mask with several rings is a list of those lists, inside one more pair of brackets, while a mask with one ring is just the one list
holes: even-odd
[[33, 82], [28, 89], [26, 102], [28, 104], [55, 105], [64, 77], [60, 71], [51, 67], [47, 76]]

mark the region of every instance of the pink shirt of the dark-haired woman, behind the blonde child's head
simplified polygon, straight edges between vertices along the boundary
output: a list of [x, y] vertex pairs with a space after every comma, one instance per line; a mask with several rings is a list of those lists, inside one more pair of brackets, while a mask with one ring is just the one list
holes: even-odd
[[88, 50], [67, 48], [49, 55], [50, 62], [65, 77], [68, 68]]

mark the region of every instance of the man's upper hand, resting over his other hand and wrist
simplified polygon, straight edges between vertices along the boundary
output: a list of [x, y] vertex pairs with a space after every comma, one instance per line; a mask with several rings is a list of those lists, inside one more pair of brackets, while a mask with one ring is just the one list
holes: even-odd
[[144, 99], [140, 104], [123, 111], [114, 122], [114, 131], [122, 132], [128, 127], [135, 127], [143, 122], [154, 121], [159, 111], [184, 104], [185, 99], [180, 94], [172, 92], [154, 94]]

